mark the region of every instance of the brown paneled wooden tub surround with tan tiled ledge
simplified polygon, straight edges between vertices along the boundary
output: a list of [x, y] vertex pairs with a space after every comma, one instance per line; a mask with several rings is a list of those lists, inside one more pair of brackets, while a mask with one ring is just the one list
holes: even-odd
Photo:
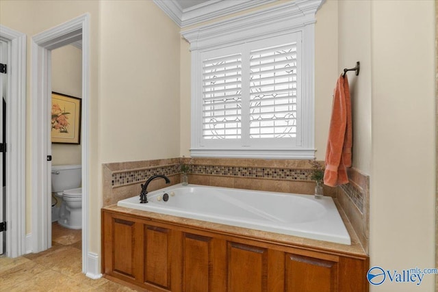
[[339, 211], [351, 245], [111, 205], [102, 271], [140, 291], [368, 291], [368, 256]]

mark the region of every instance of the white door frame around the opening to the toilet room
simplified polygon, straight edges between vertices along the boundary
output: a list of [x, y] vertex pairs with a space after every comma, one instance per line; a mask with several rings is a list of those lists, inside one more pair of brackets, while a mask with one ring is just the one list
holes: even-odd
[[[31, 39], [31, 245], [32, 252], [51, 247], [51, 50], [82, 40], [82, 271], [89, 275], [89, 104], [90, 104], [90, 14], [37, 34]], [[92, 254], [93, 256], [93, 254]], [[92, 258], [91, 256], [91, 258]], [[90, 263], [94, 267], [94, 263]], [[94, 268], [92, 268], [94, 269]]]

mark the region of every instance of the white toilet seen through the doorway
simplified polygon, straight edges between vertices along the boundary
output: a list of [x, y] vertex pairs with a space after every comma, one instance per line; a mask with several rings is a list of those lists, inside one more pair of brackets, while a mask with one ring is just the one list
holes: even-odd
[[52, 193], [61, 202], [57, 222], [66, 228], [82, 228], [81, 165], [53, 165]]

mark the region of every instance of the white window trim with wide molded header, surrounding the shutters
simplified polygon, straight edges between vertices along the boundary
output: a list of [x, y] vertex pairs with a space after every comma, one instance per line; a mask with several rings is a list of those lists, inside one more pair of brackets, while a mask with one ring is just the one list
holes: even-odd
[[[265, 10], [244, 14], [226, 21], [182, 31], [183, 38], [190, 42], [192, 54], [192, 157], [242, 157], [242, 158], [315, 158], [315, 114], [314, 114], [314, 63], [315, 63], [315, 13], [323, 0], [293, 1], [272, 6]], [[300, 33], [302, 40], [302, 135], [301, 145], [294, 148], [208, 148], [201, 146], [202, 124], [200, 112], [202, 92], [201, 52], [221, 47], [230, 47], [242, 42], [252, 42], [263, 38]], [[201, 99], [200, 99], [201, 98]]]

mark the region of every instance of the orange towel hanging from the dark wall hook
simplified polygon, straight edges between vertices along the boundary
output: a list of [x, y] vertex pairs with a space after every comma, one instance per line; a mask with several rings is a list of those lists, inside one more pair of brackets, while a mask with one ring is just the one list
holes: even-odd
[[351, 166], [352, 121], [347, 76], [337, 79], [326, 150], [324, 185], [348, 183], [346, 167]]

